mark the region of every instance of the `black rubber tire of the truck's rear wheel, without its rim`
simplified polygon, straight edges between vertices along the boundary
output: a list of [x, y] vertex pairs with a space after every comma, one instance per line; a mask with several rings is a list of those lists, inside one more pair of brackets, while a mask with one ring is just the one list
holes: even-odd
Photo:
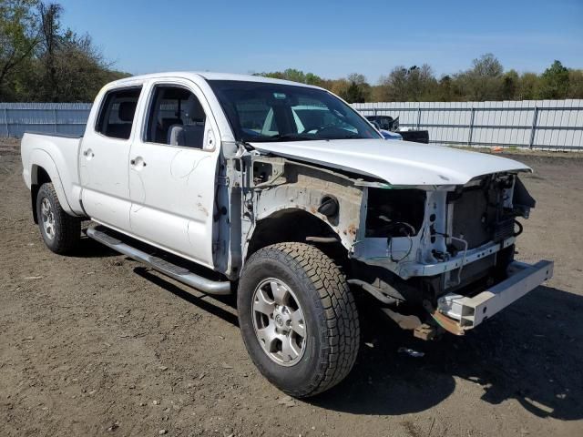
[[[47, 201], [52, 213], [53, 226], [46, 229], [43, 202]], [[81, 219], [69, 216], [56, 197], [55, 187], [52, 183], [46, 183], [38, 189], [36, 195], [36, 217], [40, 234], [45, 240], [46, 247], [60, 255], [71, 252], [77, 248], [81, 239]], [[53, 229], [53, 231], [51, 231]]]

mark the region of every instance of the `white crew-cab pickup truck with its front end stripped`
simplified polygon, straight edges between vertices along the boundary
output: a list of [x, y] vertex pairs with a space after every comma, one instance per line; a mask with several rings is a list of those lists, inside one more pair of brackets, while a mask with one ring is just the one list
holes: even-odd
[[[98, 94], [84, 137], [26, 134], [46, 246], [87, 235], [209, 294], [237, 294], [242, 337], [296, 397], [342, 381], [353, 294], [419, 338], [462, 335], [535, 289], [514, 260], [535, 206], [506, 158], [385, 141], [315, 86], [258, 76], [136, 76]], [[383, 330], [379, 327], [379, 330]]]

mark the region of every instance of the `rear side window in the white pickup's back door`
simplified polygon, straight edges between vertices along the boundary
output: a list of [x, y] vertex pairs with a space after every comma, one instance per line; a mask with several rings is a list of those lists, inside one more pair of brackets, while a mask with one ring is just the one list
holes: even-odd
[[128, 139], [141, 90], [141, 86], [135, 86], [109, 91], [97, 117], [97, 132], [106, 137]]

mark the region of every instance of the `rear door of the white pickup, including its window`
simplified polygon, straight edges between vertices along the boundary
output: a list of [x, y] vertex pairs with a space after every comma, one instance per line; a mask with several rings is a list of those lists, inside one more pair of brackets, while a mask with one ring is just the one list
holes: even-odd
[[141, 86], [108, 91], [79, 153], [83, 208], [92, 219], [123, 231], [129, 230], [128, 157], [140, 93]]

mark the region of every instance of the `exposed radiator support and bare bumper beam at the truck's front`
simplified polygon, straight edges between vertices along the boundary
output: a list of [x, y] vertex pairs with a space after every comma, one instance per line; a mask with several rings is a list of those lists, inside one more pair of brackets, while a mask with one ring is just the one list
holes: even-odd
[[[517, 219], [535, 206], [516, 173], [464, 186], [367, 184], [363, 195], [356, 271], [375, 269], [369, 285], [421, 304], [445, 330], [463, 334], [552, 276], [552, 262], [514, 261]], [[381, 278], [382, 269], [391, 274]]]

